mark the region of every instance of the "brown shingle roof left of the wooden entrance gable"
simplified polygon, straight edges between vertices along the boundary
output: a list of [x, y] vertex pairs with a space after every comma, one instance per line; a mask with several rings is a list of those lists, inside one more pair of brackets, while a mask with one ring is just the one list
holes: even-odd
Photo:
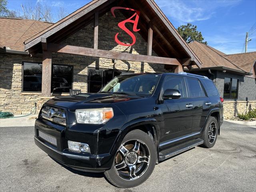
[[11, 50], [24, 51], [23, 42], [42, 30], [51, 26], [52, 23], [17, 19], [0, 18], [0, 46], [10, 47]]

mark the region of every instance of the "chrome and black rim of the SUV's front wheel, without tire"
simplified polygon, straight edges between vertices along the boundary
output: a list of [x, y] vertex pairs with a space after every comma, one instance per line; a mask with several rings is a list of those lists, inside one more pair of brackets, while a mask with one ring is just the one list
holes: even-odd
[[119, 147], [114, 168], [120, 178], [135, 180], [146, 172], [149, 162], [150, 152], [146, 144], [140, 140], [129, 140]]

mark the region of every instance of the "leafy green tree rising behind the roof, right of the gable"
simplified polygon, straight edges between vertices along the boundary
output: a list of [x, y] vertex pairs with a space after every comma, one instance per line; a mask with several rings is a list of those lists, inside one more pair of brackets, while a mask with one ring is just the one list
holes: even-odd
[[177, 30], [187, 43], [197, 41], [207, 45], [207, 41], [203, 42], [202, 33], [198, 32], [196, 25], [188, 23], [187, 25], [179, 26]]

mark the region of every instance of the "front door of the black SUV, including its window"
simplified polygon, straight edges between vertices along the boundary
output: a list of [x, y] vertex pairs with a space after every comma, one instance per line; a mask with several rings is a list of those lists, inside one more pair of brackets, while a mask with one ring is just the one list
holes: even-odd
[[[179, 90], [181, 97], [166, 99], [161, 105], [164, 128], [161, 130], [160, 142], [170, 141], [191, 133], [192, 107], [190, 106], [190, 99], [187, 97], [184, 77], [167, 76], [164, 80], [162, 92], [166, 89]], [[164, 147], [168, 147], [168, 144]]]

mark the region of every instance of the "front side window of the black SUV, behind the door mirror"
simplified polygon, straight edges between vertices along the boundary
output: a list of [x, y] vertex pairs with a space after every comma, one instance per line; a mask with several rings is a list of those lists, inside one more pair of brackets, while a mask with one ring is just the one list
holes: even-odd
[[172, 76], [167, 77], [164, 81], [163, 89], [164, 91], [166, 89], [176, 89], [180, 91], [180, 94], [181, 94], [180, 98], [187, 97], [186, 85], [185, 85], [184, 78], [182, 77], [172, 77]]

